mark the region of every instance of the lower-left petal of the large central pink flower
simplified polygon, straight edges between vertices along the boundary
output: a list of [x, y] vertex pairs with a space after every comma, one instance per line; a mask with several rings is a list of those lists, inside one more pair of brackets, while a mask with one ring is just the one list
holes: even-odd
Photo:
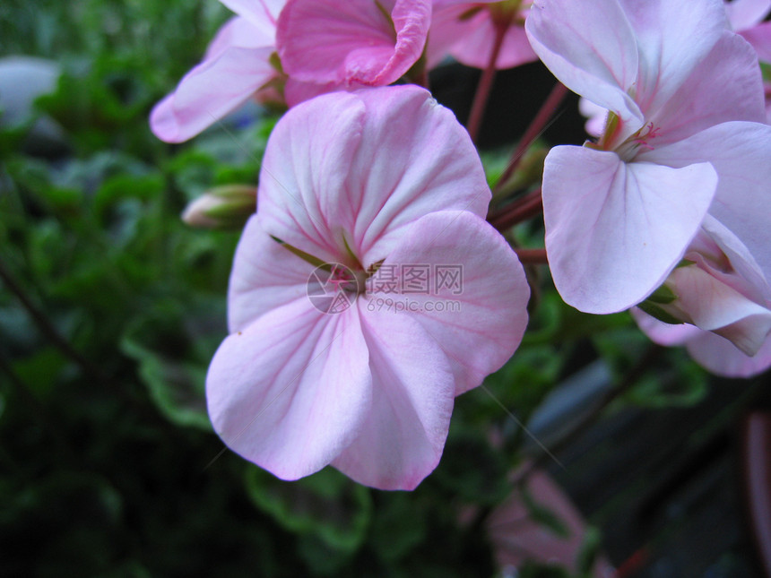
[[307, 299], [222, 342], [206, 377], [217, 434], [281, 479], [308, 476], [351, 444], [372, 400], [356, 307], [325, 315]]

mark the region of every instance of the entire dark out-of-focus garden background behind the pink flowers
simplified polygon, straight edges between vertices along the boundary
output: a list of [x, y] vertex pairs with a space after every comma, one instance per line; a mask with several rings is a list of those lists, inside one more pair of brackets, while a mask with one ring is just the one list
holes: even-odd
[[[178, 146], [147, 116], [228, 15], [212, 0], [0, 4], [0, 575], [756, 575], [732, 431], [764, 378], [710, 380], [628, 315], [562, 304], [543, 268], [523, 346], [456, 401], [416, 491], [332, 469], [286, 483], [223, 452], [204, 376], [239, 231], [179, 215], [256, 186], [277, 116], [254, 105]], [[462, 121], [477, 75], [432, 76]], [[491, 182], [549, 78], [499, 76]], [[564, 108], [544, 138], [581, 142]], [[534, 246], [540, 221], [515, 236]]]

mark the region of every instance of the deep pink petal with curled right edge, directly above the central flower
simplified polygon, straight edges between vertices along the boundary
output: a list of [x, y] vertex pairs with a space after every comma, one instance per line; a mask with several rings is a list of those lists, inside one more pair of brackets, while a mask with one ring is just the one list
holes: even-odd
[[383, 86], [414, 65], [426, 42], [430, 0], [290, 0], [279, 18], [284, 70], [302, 82]]

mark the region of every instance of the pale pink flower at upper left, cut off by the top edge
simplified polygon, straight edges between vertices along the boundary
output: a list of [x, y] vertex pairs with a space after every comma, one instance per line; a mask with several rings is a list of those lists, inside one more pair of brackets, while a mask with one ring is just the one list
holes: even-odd
[[[214, 37], [204, 60], [177, 90], [152, 109], [152, 132], [166, 142], [184, 142], [232, 112], [277, 78], [276, 19], [285, 0], [221, 0], [239, 15]], [[270, 92], [265, 92], [270, 98]]]

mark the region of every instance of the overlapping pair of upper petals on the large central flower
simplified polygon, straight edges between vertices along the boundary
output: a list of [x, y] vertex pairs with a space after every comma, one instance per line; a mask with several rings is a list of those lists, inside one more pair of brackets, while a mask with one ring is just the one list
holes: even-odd
[[366, 266], [414, 220], [442, 209], [482, 216], [489, 198], [455, 116], [428, 91], [394, 86], [291, 108], [265, 152], [258, 204], [273, 236], [325, 261], [350, 261], [350, 247]]

